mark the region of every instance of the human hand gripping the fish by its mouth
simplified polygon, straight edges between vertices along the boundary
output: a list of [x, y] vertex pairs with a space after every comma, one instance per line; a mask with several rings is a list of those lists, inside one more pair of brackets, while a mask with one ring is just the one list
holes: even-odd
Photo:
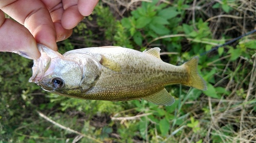
[[[0, 3], [0, 51], [37, 59], [36, 43], [57, 50], [56, 42], [67, 39], [98, 0], [8, 0]], [[8, 14], [14, 20], [5, 18]]]

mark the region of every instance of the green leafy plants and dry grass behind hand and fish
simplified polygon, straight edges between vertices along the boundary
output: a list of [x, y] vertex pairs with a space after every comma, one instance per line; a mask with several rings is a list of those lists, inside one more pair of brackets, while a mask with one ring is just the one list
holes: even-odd
[[[102, 0], [59, 51], [161, 48], [181, 65], [255, 28], [255, 1]], [[0, 142], [256, 142], [256, 35], [200, 56], [208, 90], [167, 87], [172, 106], [67, 98], [29, 83], [33, 61], [0, 53]]]

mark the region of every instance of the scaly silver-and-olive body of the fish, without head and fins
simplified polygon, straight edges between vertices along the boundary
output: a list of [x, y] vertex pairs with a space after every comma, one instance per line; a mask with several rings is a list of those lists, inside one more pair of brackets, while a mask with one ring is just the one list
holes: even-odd
[[188, 78], [184, 67], [164, 63], [153, 55], [136, 50], [86, 48], [74, 52], [96, 57], [102, 54], [107, 59], [115, 59], [121, 66], [120, 72], [103, 67], [94, 87], [81, 95], [85, 99], [111, 101], [138, 99], [163, 89], [167, 84], [185, 83]]

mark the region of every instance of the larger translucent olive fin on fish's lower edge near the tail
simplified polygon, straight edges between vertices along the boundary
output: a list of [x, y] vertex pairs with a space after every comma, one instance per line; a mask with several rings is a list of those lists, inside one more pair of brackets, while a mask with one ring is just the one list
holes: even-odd
[[150, 96], [143, 97], [142, 99], [164, 106], [172, 105], [175, 102], [175, 99], [165, 89], [162, 89]]

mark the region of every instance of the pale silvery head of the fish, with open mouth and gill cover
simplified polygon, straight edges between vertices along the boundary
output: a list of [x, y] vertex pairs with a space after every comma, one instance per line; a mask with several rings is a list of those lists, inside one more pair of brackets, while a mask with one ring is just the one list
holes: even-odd
[[[38, 44], [41, 53], [39, 59], [34, 60], [33, 75], [29, 82], [37, 83], [42, 89], [54, 93], [81, 93], [90, 89], [101, 74], [99, 61], [84, 53], [70, 53], [61, 55], [57, 51]], [[57, 79], [63, 79], [61, 88]]]

